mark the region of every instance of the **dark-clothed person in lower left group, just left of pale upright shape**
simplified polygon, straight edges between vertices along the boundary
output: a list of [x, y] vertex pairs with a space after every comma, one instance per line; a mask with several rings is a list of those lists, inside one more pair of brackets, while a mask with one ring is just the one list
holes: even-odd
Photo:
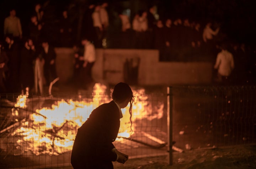
[[[33, 62], [35, 59], [35, 47], [32, 39], [27, 39], [24, 47], [21, 50], [21, 62], [20, 62], [20, 82], [21, 89], [25, 91], [25, 88], [31, 89], [34, 84], [34, 70]], [[27, 91], [27, 89], [26, 89]]]

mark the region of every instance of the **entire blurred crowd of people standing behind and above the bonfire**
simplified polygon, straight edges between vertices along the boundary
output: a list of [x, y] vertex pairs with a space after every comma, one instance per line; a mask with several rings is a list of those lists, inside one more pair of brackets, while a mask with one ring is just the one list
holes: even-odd
[[[107, 2], [91, 4], [82, 17], [79, 37], [75, 33], [79, 24], [70, 19], [68, 10], [62, 10], [58, 22], [52, 20], [49, 11], [45, 13], [41, 4], [36, 4], [31, 13], [26, 30], [15, 9], [4, 20], [4, 39], [0, 40], [1, 92], [24, 91], [36, 87], [38, 81], [39, 88], [42, 84], [49, 85], [57, 78], [54, 47], [73, 47], [74, 78], [80, 86], [92, 81], [95, 47], [158, 49], [160, 61], [194, 61], [199, 56], [213, 56], [215, 61], [217, 54], [224, 50], [219, 44], [225, 43], [225, 50], [234, 60], [228, 76], [235, 72], [239, 75], [237, 80], [241, 77], [244, 81], [242, 77], [251, 71], [254, 50], [248, 50], [243, 43], [224, 42], [219, 24], [208, 22], [204, 26], [188, 18], [159, 16], [157, 6], [140, 10], [133, 18], [127, 10], [119, 10], [118, 22], [112, 24]], [[113, 29], [113, 25], [117, 28]], [[215, 69], [219, 68], [217, 62], [219, 57]]]

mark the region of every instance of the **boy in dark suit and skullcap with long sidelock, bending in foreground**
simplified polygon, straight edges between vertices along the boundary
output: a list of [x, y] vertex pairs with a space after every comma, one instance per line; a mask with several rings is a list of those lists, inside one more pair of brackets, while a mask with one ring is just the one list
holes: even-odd
[[74, 169], [113, 169], [112, 161], [125, 163], [128, 160], [128, 155], [119, 152], [112, 142], [116, 140], [123, 116], [121, 108], [128, 103], [132, 116], [132, 89], [126, 83], [118, 83], [113, 89], [112, 99], [94, 109], [78, 129], [71, 153]]

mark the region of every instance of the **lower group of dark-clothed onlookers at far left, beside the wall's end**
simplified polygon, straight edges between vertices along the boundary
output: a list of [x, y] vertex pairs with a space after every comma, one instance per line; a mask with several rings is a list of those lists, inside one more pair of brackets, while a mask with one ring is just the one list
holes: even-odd
[[[35, 44], [32, 38], [22, 40], [6, 35], [0, 43], [0, 92], [25, 92], [39, 85], [48, 85], [55, 78], [56, 53], [54, 47], [44, 39], [40, 45]], [[37, 71], [37, 74], [35, 73]], [[38, 83], [36, 83], [38, 84]], [[40, 94], [40, 93], [38, 93]]]

